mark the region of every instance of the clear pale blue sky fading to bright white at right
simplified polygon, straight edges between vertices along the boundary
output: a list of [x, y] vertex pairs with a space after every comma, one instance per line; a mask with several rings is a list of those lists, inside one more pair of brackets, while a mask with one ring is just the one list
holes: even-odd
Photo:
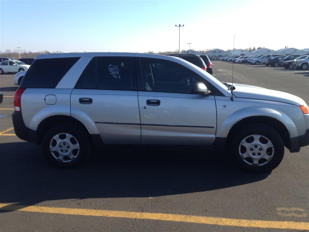
[[[300, 7], [302, 6], [302, 7]], [[178, 49], [308, 48], [308, 0], [291, 1], [3, 1], [0, 50], [155, 52]], [[302, 13], [303, 11], [303, 13]], [[251, 17], [250, 20], [246, 19]], [[267, 19], [272, 24], [267, 25]], [[267, 18], [267, 19], [266, 19]], [[303, 35], [299, 39], [295, 34]]]

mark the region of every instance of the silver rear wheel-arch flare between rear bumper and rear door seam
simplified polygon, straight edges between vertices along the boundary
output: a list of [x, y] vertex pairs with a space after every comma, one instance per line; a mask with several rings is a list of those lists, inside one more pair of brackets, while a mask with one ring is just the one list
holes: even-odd
[[40, 122], [45, 118], [53, 115], [67, 115], [70, 116], [70, 106], [69, 105], [50, 105], [44, 109], [37, 112], [30, 121], [29, 128], [36, 131]]

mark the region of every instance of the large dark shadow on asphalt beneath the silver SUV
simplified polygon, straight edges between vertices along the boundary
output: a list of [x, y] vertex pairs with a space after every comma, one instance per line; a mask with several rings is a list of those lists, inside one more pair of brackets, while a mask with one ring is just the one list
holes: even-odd
[[270, 174], [243, 172], [224, 154], [202, 148], [108, 147], [76, 169], [50, 165], [41, 147], [32, 143], [4, 143], [0, 150], [0, 203], [18, 205], [211, 191], [260, 181]]

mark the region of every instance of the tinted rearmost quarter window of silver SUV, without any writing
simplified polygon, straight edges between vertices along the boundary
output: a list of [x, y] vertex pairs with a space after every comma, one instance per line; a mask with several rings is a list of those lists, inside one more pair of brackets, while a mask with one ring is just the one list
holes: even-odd
[[21, 88], [55, 88], [79, 57], [35, 60], [20, 85]]

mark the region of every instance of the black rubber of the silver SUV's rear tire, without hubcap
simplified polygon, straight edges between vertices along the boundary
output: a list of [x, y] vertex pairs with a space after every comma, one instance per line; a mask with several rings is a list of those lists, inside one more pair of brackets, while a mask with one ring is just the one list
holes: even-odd
[[[78, 150], [78, 154], [72, 160], [67, 159], [69, 157], [65, 156], [65, 157], [67, 157], [66, 159], [64, 157], [64, 159], [62, 161], [59, 161], [58, 159], [56, 159], [54, 157], [55, 153], [53, 155], [52, 152], [50, 151], [49, 146], [50, 146], [50, 144], [53, 143], [52, 142], [53, 137], [55, 135], [58, 135], [58, 134], [61, 134], [61, 133], [68, 133], [68, 134], [72, 135], [74, 137], [73, 140], [76, 139], [77, 142], [78, 142], [79, 150], [76, 149], [76, 150]], [[59, 136], [59, 139], [60, 139], [60, 136]], [[56, 142], [56, 141], [54, 140], [54, 142]], [[67, 145], [67, 144], [65, 144], [65, 145]], [[54, 147], [56, 147], [56, 146], [58, 146], [58, 144], [55, 145]], [[88, 131], [86, 131], [84, 128], [79, 127], [78, 125], [76, 125], [74, 123], [70, 123], [70, 122], [59, 123], [59, 124], [51, 127], [45, 133], [44, 138], [43, 138], [43, 142], [42, 142], [42, 149], [43, 149], [43, 153], [44, 153], [45, 157], [53, 165], [55, 165], [59, 168], [78, 167], [78, 166], [83, 165], [91, 155], [90, 135], [89, 135]], [[60, 149], [60, 148], [58, 148], [58, 149]], [[66, 148], [64, 148], [64, 149], [66, 149]], [[72, 150], [72, 153], [73, 153], [73, 150]], [[56, 154], [57, 154], [57, 152], [56, 152]], [[59, 153], [58, 153], [58, 155], [59, 155]]]

